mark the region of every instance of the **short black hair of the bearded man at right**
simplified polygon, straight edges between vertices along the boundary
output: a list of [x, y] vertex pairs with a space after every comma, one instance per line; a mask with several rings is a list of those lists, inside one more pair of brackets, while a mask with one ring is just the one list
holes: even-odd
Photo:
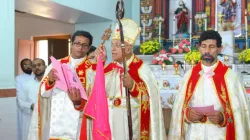
[[221, 47], [222, 38], [221, 38], [220, 34], [219, 34], [217, 31], [214, 31], [214, 30], [207, 30], [207, 31], [204, 31], [204, 32], [201, 34], [201, 36], [200, 36], [199, 44], [201, 44], [202, 41], [208, 40], [208, 39], [216, 40], [216, 45], [217, 45], [217, 47], [218, 47], [218, 48]]

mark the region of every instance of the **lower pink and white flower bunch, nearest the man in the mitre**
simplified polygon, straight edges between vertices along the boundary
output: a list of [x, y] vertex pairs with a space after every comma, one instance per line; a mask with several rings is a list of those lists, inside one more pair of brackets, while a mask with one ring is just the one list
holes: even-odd
[[166, 65], [171, 65], [173, 61], [173, 57], [169, 56], [166, 50], [161, 50], [159, 53], [154, 54], [152, 64], [162, 65], [164, 63]]

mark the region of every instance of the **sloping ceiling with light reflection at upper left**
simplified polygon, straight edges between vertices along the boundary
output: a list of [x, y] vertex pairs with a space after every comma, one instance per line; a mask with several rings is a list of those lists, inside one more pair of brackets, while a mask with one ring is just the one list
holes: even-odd
[[15, 0], [15, 10], [72, 24], [110, 21], [49, 0]]

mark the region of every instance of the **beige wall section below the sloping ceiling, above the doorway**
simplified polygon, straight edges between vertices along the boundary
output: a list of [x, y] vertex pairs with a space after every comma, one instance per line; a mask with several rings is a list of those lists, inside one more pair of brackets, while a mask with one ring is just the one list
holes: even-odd
[[31, 36], [72, 34], [75, 25], [30, 14], [15, 14], [16, 39], [30, 40]]

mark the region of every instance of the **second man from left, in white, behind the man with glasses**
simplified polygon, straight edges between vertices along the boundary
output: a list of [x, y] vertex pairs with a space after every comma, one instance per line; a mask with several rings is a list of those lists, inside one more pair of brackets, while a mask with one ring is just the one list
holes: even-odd
[[34, 61], [32, 62], [32, 71], [35, 77], [24, 81], [24, 84], [20, 91], [22, 97], [17, 99], [17, 104], [22, 112], [22, 119], [18, 123], [21, 124], [21, 135], [18, 136], [18, 139], [20, 140], [27, 140], [32, 111], [34, 108], [34, 104], [37, 101], [38, 89], [45, 69], [46, 66], [43, 59], [34, 59]]

